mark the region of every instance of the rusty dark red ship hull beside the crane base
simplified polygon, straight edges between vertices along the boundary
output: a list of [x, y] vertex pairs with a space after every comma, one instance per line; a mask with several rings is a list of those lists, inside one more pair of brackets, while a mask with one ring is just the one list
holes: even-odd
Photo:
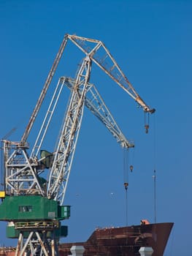
[[129, 227], [107, 227], [96, 229], [85, 242], [60, 244], [59, 255], [71, 255], [73, 245], [84, 246], [83, 256], [139, 256], [142, 246], [153, 248], [153, 256], [163, 256], [172, 222]]

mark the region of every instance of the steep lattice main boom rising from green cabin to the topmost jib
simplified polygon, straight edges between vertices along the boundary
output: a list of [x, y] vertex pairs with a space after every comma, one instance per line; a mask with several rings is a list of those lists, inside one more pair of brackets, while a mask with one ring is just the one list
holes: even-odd
[[[50, 177], [47, 187], [47, 197], [54, 200], [64, 201], [66, 186], [69, 180], [72, 159], [80, 132], [82, 112], [85, 105], [85, 94], [88, 87], [88, 80], [91, 72], [91, 60], [86, 57], [78, 72], [69, 106], [67, 108], [64, 125], [59, 143], [55, 151], [53, 167], [50, 170]], [[64, 182], [63, 182], [64, 181]]]

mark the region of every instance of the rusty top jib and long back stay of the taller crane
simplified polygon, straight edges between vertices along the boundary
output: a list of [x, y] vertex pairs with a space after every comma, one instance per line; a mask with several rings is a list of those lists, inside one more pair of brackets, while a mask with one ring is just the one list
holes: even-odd
[[[47, 94], [47, 89], [50, 86], [51, 80], [53, 79], [53, 75], [55, 75], [55, 71], [58, 67], [59, 61], [61, 60], [61, 56], [66, 48], [66, 43], [68, 40], [71, 40], [77, 48], [80, 48], [86, 56], [101, 68], [107, 75], [118, 83], [118, 85], [126, 91], [142, 108], [145, 112], [154, 113], [155, 109], [150, 108], [143, 99], [137, 94], [137, 91], [128, 81], [126, 75], [122, 72], [118, 63], [112, 57], [110, 51], [106, 48], [103, 42], [90, 39], [86, 37], [78, 37], [76, 35], [65, 34], [63, 41], [61, 42], [61, 46], [58, 50], [58, 53], [53, 61], [53, 66], [48, 73], [47, 79], [45, 80], [45, 84], [43, 86], [40, 97], [37, 101], [37, 105], [35, 106], [33, 113], [28, 121], [28, 125], [26, 126], [25, 132], [23, 133], [23, 137], [21, 138], [20, 145], [24, 145], [26, 142], [28, 135], [34, 125], [34, 121], [37, 118], [39, 113], [39, 109], [41, 108], [42, 102], [45, 99], [45, 95]], [[87, 44], [86, 44], [87, 43]], [[107, 62], [108, 61], [108, 62]]]

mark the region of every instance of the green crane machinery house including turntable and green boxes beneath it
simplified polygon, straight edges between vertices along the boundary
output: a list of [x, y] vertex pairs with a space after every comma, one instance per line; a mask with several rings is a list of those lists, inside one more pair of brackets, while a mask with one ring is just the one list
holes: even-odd
[[55, 229], [56, 236], [67, 236], [68, 228], [60, 221], [69, 217], [70, 206], [60, 206], [58, 201], [40, 195], [6, 196], [0, 205], [0, 220], [9, 222], [8, 238], [18, 238], [20, 230], [27, 237], [28, 230], [35, 227]]

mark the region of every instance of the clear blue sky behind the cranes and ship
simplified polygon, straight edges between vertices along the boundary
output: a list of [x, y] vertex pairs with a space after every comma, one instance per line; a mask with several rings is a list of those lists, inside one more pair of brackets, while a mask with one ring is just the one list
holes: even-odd
[[[191, 252], [191, 13], [192, 2], [185, 0], [0, 1], [0, 137], [17, 127], [9, 139], [20, 140], [64, 34], [103, 41], [157, 110], [146, 135], [142, 110], [93, 67], [91, 82], [136, 145], [128, 224], [154, 221], [155, 168], [157, 222], [174, 222], [165, 256]], [[58, 77], [74, 74], [71, 53], [66, 48]], [[123, 151], [88, 111], [82, 123], [65, 202], [72, 205], [66, 241], [85, 241], [98, 226], [126, 224]], [[13, 241], [1, 233], [0, 244]]]

